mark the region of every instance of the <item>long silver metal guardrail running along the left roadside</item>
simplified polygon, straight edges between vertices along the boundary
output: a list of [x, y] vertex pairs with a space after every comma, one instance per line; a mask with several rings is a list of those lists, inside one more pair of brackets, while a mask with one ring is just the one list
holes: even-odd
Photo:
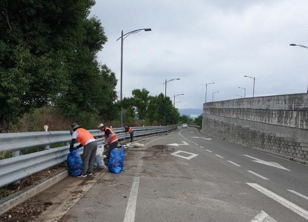
[[[134, 136], [163, 133], [176, 128], [177, 126], [132, 127]], [[119, 140], [130, 136], [129, 133], [125, 133], [123, 128], [113, 128], [113, 131], [117, 133]], [[105, 139], [102, 137], [101, 131], [90, 130], [90, 132], [97, 139], [99, 145], [104, 144]], [[0, 160], [0, 187], [65, 162], [69, 153], [70, 140], [69, 131], [0, 134], [0, 152], [15, 152], [14, 157]], [[66, 146], [49, 149], [51, 145], [60, 143], [65, 143]], [[35, 147], [45, 147], [46, 149], [19, 155], [19, 151]], [[83, 151], [83, 149], [80, 150]]]

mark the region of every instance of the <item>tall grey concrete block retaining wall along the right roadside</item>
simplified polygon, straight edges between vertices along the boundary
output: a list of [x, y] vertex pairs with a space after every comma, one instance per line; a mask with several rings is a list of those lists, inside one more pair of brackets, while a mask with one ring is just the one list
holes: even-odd
[[307, 162], [308, 94], [206, 103], [202, 131]]

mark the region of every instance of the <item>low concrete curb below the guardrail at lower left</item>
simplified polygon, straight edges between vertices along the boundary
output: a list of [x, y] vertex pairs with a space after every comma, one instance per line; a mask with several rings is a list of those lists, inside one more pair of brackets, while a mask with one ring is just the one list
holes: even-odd
[[47, 180], [45, 180], [43, 183], [38, 184], [34, 187], [22, 190], [20, 192], [16, 192], [10, 196], [7, 196], [0, 200], [0, 215], [6, 213], [11, 208], [23, 203], [27, 199], [35, 196], [38, 193], [43, 192], [44, 190], [52, 187], [62, 179], [68, 177], [68, 171], [64, 171], [58, 175], [55, 175]]

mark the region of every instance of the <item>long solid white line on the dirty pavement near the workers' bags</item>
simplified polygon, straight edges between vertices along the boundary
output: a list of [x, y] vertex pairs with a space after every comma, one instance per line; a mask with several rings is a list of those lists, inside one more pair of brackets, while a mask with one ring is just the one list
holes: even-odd
[[[143, 159], [144, 152], [141, 153], [138, 166], [136, 169], [136, 174], [140, 171], [143, 165]], [[128, 197], [126, 212], [124, 216], [124, 222], [134, 222], [134, 217], [136, 214], [136, 204], [137, 204], [137, 196], [138, 196], [138, 190], [139, 190], [139, 182], [140, 182], [140, 176], [135, 176], [133, 178], [133, 182], [131, 185], [131, 190]]]

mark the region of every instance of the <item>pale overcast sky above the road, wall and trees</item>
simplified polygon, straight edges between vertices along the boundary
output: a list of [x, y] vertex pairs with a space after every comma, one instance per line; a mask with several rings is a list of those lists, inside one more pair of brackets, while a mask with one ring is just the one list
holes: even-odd
[[236, 98], [246, 87], [255, 95], [307, 91], [308, 50], [289, 46], [308, 45], [307, 0], [97, 0], [91, 15], [97, 16], [108, 42], [98, 59], [119, 79], [121, 42], [124, 33], [123, 94], [146, 88], [151, 95], [164, 92], [178, 96], [177, 108], [202, 108], [213, 91], [214, 100]]

